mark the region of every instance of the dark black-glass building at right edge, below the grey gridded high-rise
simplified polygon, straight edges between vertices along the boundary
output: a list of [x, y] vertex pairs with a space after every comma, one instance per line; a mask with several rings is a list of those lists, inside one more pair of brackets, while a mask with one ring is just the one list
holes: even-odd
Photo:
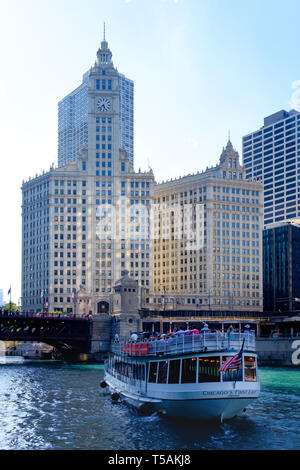
[[300, 218], [263, 231], [264, 310], [300, 311]]

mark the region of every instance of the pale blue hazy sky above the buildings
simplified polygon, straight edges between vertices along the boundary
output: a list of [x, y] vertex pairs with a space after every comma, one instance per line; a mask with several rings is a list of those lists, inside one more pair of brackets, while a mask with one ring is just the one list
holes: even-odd
[[57, 105], [103, 37], [135, 83], [135, 169], [205, 170], [300, 110], [299, 0], [0, 0], [0, 289], [21, 296], [21, 185], [57, 163]]

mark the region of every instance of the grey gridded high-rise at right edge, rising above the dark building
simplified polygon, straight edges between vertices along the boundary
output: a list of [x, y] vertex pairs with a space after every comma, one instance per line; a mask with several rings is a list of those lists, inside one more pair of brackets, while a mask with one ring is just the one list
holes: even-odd
[[243, 137], [248, 178], [264, 184], [264, 224], [300, 216], [300, 113], [281, 110]]

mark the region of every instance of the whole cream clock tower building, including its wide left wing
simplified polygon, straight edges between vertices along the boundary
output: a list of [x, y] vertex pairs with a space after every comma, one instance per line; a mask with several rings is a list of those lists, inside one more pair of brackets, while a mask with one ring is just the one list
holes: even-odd
[[83, 139], [75, 133], [76, 139], [71, 134], [68, 140], [66, 134], [65, 146], [71, 142], [72, 152], [65, 151], [59, 167], [23, 183], [24, 310], [46, 305], [48, 310], [97, 312], [103, 297], [110, 308], [113, 286], [125, 270], [143, 288], [144, 298], [152, 288], [154, 176], [134, 172], [122, 144], [130, 98], [125, 93], [124, 102], [123, 76], [111, 59], [103, 40], [94, 67], [73, 97]]

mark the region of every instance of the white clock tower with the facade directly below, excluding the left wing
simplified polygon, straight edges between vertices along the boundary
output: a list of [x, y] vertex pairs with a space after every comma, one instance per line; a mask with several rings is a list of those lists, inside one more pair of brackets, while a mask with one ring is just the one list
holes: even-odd
[[125, 270], [146, 293], [151, 289], [150, 202], [154, 178], [152, 172], [135, 173], [129, 152], [120, 145], [125, 120], [121, 87], [104, 34], [88, 81], [85, 167], [91, 176], [89, 223], [93, 235], [88, 264], [92, 267], [94, 308], [100, 299], [111, 304], [113, 286]]

